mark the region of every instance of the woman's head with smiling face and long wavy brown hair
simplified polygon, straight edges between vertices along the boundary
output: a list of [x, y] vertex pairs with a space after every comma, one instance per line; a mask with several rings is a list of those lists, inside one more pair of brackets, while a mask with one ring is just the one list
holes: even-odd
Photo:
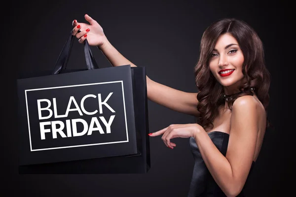
[[[222, 19], [205, 30], [195, 74], [200, 123], [208, 130], [214, 127], [219, 106], [231, 109], [238, 97], [252, 95], [267, 113], [270, 73], [265, 66], [263, 44], [245, 22]], [[269, 126], [268, 120], [266, 124]]]

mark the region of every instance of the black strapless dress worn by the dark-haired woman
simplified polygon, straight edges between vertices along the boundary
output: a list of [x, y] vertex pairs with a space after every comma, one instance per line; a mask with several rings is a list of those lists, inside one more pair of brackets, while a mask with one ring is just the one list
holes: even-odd
[[[211, 131], [208, 135], [220, 152], [225, 156], [229, 134], [221, 131]], [[194, 168], [187, 197], [226, 197], [204, 163], [193, 137], [190, 137], [189, 143], [194, 157]], [[255, 162], [253, 161], [248, 178], [252, 172], [254, 164]], [[237, 197], [245, 197], [244, 188]]]

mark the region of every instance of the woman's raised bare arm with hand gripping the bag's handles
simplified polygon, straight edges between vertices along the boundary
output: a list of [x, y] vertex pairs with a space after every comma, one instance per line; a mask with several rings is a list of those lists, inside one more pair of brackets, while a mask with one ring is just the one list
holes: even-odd
[[[87, 14], [85, 15], [85, 19], [89, 22], [89, 24], [78, 23], [75, 20], [73, 21], [73, 35], [79, 39], [79, 43], [83, 43], [83, 41], [87, 39], [89, 45], [97, 46], [103, 52], [112, 66], [136, 66], [111, 45], [103, 32], [102, 27], [94, 19]], [[77, 33], [78, 30], [80, 31], [79, 33]], [[174, 111], [199, 116], [199, 112], [196, 108], [198, 103], [197, 93], [187, 93], [176, 90], [157, 83], [151, 80], [148, 76], [146, 77], [149, 100], [168, 107]]]

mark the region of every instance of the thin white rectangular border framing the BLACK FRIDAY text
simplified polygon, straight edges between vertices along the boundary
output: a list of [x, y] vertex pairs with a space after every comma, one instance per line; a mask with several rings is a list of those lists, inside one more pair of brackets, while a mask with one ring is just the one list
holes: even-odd
[[[58, 89], [58, 88], [70, 88], [70, 87], [78, 87], [78, 86], [91, 86], [91, 85], [108, 84], [108, 83], [121, 83], [122, 99], [123, 99], [123, 107], [124, 107], [124, 117], [125, 117], [125, 129], [126, 129], [126, 138], [127, 138], [126, 141], [115, 141], [115, 142], [104, 142], [104, 143], [97, 143], [97, 144], [83, 144], [83, 145], [75, 145], [75, 146], [63, 146], [63, 147], [54, 147], [54, 148], [32, 149], [27, 92], [29, 92], [29, 91], [38, 91], [38, 90], [48, 90], [48, 89]], [[30, 89], [30, 90], [25, 90], [25, 97], [26, 97], [28, 129], [29, 129], [29, 139], [30, 139], [30, 149], [31, 149], [31, 151], [43, 151], [43, 150], [52, 150], [52, 149], [61, 149], [61, 148], [73, 148], [73, 147], [80, 147], [80, 146], [94, 146], [94, 145], [101, 145], [101, 144], [114, 144], [114, 143], [128, 142], [128, 132], [127, 132], [127, 121], [126, 121], [126, 109], [125, 109], [125, 100], [124, 100], [123, 81], [110, 81], [110, 82], [101, 82], [101, 83], [90, 83], [90, 84], [80, 84], [80, 85], [71, 85], [71, 86], [58, 86], [58, 87], [50, 87], [50, 88]]]

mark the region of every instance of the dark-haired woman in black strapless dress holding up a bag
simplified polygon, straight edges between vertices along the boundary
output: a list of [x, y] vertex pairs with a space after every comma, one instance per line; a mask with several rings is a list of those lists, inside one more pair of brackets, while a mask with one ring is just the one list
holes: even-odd
[[[98, 46], [113, 66], [131, 65], [108, 41], [90, 16], [89, 24], [73, 21], [79, 43]], [[188, 197], [243, 196], [260, 152], [266, 128], [270, 74], [257, 33], [243, 21], [222, 19], [201, 38], [195, 66], [198, 93], [186, 93], [147, 77], [148, 99], [198, 118], [198, 124], [170, 125], [150, 136], [190, 137], [195, 159]]]

